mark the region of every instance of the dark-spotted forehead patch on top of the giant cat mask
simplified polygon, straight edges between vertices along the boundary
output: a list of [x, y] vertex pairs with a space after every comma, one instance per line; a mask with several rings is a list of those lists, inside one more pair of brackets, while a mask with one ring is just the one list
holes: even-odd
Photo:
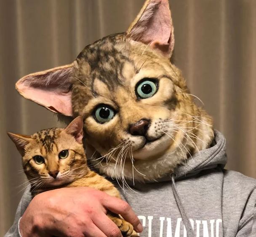
[[[122, 50], [117, 49], [120, 47], [123, 47]], [[93, 84], [96, 79], [113, 90], [116, 86], [123, 85], [123, 67], [127, 62], [132, 64], [128, 55], [125, 55], [124, 35], [115, 34], [83, 49], [77, 57], [77, 63], [80, 66], [80, 72], [77, 74], [79, 80], [86, 86], [90, 86], [93, 92], [95, 92]], [[80, 81], [75, 80], [75, 82], [79, 83]]]

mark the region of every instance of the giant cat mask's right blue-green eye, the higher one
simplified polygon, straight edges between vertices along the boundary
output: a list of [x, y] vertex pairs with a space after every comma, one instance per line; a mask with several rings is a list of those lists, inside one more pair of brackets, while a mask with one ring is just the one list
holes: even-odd
[[152, 78], [144, 78], [136, 85], [135, 92], [139, 99], [147, 99], [157, 93], [157, 80]]

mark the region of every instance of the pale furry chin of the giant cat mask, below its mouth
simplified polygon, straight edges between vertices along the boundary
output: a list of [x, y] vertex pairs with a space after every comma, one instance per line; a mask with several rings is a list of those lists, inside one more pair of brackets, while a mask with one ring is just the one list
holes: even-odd
[[159, 139], [145, 143], [145, 145], [142, 148], [133, 151], [133, 158], [137, 160], [157, 158], [171, 146], [171, 141], [171, 137], [165, 134], [161, 136]]

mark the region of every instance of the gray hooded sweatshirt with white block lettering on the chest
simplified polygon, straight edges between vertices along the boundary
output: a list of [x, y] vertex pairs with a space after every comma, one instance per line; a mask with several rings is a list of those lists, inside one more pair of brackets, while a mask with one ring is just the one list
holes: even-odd
[[[256, 237], [256, 180], [224, 169], [225, 139], [215, 131], [214, 140], [161, 180], [116, 185], [141, 220], [141, 237]], [[5, 237], [19, 237], [30, 200], [28, 189]]]

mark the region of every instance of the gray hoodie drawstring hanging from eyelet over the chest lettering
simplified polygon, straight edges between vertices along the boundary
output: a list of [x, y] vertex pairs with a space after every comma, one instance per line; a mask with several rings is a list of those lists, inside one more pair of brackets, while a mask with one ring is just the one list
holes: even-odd
[[190, 223], [190, 221], [189, 221], [189, 219], [188, 219], [188, 217], [187, 217], [187, 214], [186, 214], [186, 212], [185, 212], [184, 206], [182, 205], [181, 199], [180, 199], [179, 194], [178, 194], [178, 192], [177, 192], [176, 185], [175, 185], [175, 177], [176, 177], [176, 174], [175, 174], [175, 173], [171, 174], [173, 195], [174, 195], [175, 200], [176, 200], [176, 203], [177, 203], [177, 205], [178, 205], [179, 212], [180, 212], [180, 214], [181, 214], [183, 223], [184, 223], [184, 225], [185, 225], [185, 227], [186, 227], [186, 230], [187, 230], [187, 237], [195, 237], [194, 230], [192, 229], [191, 223]]

